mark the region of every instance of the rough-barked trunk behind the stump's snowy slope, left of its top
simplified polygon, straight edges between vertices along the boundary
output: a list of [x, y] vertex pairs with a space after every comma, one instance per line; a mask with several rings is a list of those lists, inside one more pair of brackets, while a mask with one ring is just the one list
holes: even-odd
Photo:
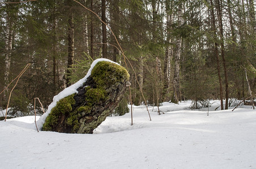
[[73, 19], [73, 14], [71, 12], [70, 16], [69, 16], [69, 29], [68, 29], [68, 37], [67, 37], [67, 41], [68, 41], [68, 50], [67, 50], [67, 83], [66, 86], [69, 87], [70, 86], [70, 70], [69, 68], [72, 67], [73, 63], [74, 63], [74, 19]]

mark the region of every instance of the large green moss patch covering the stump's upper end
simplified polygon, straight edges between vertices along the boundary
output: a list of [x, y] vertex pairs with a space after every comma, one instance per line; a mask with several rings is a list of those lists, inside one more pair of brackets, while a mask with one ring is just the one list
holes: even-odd
[[125, 68], [108, 61], [100, 61], [92, 69], [91, 76], [97, 88], [108, 88], [117, 82], [129, 79], [130, 75]]

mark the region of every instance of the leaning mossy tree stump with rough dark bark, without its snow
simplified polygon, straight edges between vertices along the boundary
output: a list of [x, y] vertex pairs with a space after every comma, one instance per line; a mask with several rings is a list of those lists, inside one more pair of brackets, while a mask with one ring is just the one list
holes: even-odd
[[42, 130], [92, 134], [122, 99], [128, 79], [129, 73], [122, 66], [99, 61], [77, 94], [57, 102]]

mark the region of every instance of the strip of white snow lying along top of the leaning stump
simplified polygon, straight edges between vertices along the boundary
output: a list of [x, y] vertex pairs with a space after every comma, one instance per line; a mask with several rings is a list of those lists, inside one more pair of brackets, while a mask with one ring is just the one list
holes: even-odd
[[48, 114], [50, 113], [50, 111], [52, 110], [52, 108], [54, 108], [54, 106], [56, 106], [57, 101], [63, 99], [66, 96], [72, 95], [74, 93], [78, 93], [78, 91], [76, 89], [79, 88], [80, 86], [82, 86], [84, 82], [86, 82], [89, 75], [91, 75], [92, 69], [99, 61], [109, 61], [111, 63], [119, 65], [118, 63], [115, 63], [114, 61], [111, 61], [109, 59], [104, 59], [104, 58], [96, 59], [95, 61], [93, 61], [93, 63], [91, 64], [91, 68], [89, 68], [89, 70], [84, 78], [80, 79], [75, 84], [72, 84], [71, 86], [65, 88], [63, 91], [59, 92], [58, 95], [53, 97], [53, 102], [48, 106], [47, 111], [42, 115], [42, 117], [37, 122], [37, 126], [38, 126], [39, 130], [41, 130], [42, 124], [44, 124], [45, 119], [48, 116]]

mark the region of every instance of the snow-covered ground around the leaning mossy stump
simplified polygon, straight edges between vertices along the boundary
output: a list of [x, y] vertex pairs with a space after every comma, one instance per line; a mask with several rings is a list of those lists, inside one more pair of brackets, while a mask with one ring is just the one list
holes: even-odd
[[[93, 135], [36, 131], [35, 117], [0, 122], [0, 168], [256, 168], [256, 110], [164, 103], [108, 117]], [[210, 110], [215, 109], [217, 103]], [[38, 119], [39, 117], [37, 117]]]

